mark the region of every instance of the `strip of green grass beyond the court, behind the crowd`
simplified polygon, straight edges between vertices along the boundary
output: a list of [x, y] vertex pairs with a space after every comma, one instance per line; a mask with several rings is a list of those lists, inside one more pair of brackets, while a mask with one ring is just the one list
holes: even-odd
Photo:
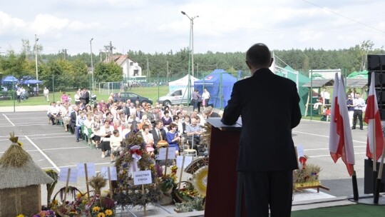
[[[114, 93], [118, 93], [119, 90], [114, 90]], [[148, 86], [148, 87], [135, 87], [131, 89], [131, 91], [135, 94], [138, 94], [140, 96], [145, 96], [151, 99], [154, 103], [158, 100], [160, 96], [165, 96], [165, 94], [168, 94], [168, 86]], [[73, 101], [73, 95], [75, 94], [75, 91], [66, 91], [67, 94], [71, 94], [71, 98]], [[102, 93], [99, 94], [99, 91], [96, 90], [93, 92], [93, 94], [96, 94], [96, 100], [100, 101], [101, 99], [104, 99], [107, 101], [108, 99], [108, 93]], [[49, 101], [58, 101], [61, 98], [60, 92], [55, 92], [55, 98], [53, 99], [53, 93], [49, 94]], [[49, 104], [45, 99], [44, 96], [41, 94], [40, 96], [36, 97], [29, 97], [26, 101], [21, 101], [20, 104], [15, 101], [16, 106], [39, 106], [39, 105], [47, 105]], [[14, 106], [14, 100], [0, 100], [0, 106]]]

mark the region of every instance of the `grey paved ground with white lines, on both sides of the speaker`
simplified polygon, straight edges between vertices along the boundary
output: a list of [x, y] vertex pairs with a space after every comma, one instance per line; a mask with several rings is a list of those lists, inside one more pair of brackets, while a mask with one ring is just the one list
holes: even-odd
[[[63, 127], [48, 124], [46, 109], [47, 106], [17, 106], [16, 113], [14, 113], [13, 107], [0, 107], [0, 156], [9, 147], [9, 133], [14, 131], [19, 136], [19, 141], [24, 143], [25, 150], [31, 154], [41, 168], [60, 170], [86, 162], [95, 163], [96, 171], [100, 171], [102, 166], [112, 166], [109, 158], [101, 158], [100, 150], [90, 149], [82, 141], [77, 143], [76, 138], [70, 133], [66, 133]], [[322, 190], [321, 193], [314, 190], [296, 193], [293, 210], [317, 206], [314, 204], [336, 206], [349, 203], [346, 197], [352, 194], [351, 179], [344, 163], [339, 160], [335, 164], [329, 156], [329, 125], [321, 121], [303, 120], [297, 128], [294, 128], [293, 134], [294, 142], [297, 145], [302, 144], [305, 154], [309, 156], [307, 163], [314, 163], [322, 167], [320, 179], [324, 186], [330, 188], [330, 191]], [[353, 138], [359, 194], [363, 196], [366, 128], [364, 131], [354, 130]], [[57, 189], [64, 185], [65, 183], [59, 182]], [[81, 188], [83, 191], [86, 189], [84, 179], [79, 179], [77, 183], [71, 183], [71, 185]], [[42, 186], [43, 203], [46, 201], [45, 189], [46, 187]], [[339, 201], [340, 198], [342, 198], [342, 202]], [[323, 200], [327, 203], [313, 204], [314, 200]], [[165, 208], [152, 206], [150, 210], [150, 216], [170, 216], [169, 213], [173, 213], [173, 206]], [[143, 215], [140, 214], [141, 211], [134, 213], [135, 216]], [[198, 214], [202, 214], [202, 212]]]

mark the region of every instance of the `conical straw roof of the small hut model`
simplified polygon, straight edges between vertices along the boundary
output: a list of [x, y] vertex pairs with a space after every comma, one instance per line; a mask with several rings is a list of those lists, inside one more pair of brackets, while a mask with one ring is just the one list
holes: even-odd
[[52, 183], [52, 178], [44, 173], [22, 148], [19, 137], [14, 133], [10, 135], [12, 144], [0, 158], [0, 189]]

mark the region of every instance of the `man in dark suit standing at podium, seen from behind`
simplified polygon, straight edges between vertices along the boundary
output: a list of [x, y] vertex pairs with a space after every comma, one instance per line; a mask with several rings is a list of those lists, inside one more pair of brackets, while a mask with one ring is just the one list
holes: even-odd
[[223, 113], [232, 125], [242, 115], [237, 171], [247, 216], [290, 216], [292, 171], [297, 157], [292, 128], [299, 124], [299, 96], [293, 81], [274, 75], [270, 50], [255, 44], [246, 53], [252, 76], [237, 81]]

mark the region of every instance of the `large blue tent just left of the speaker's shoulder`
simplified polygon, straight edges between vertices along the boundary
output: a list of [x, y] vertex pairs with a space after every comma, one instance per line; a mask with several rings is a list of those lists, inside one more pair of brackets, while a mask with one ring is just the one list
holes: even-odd
[[195, 81], [194, 89], [199, 90], [200, 94], [203, 93], [203, 89], [207, 89], [210, 93], [209, 105], [217, 109], [223, 109], [227, 106], [235, 82], [237, 82], [237, 79], [225, 70], [215, 69], [204, 79]]

